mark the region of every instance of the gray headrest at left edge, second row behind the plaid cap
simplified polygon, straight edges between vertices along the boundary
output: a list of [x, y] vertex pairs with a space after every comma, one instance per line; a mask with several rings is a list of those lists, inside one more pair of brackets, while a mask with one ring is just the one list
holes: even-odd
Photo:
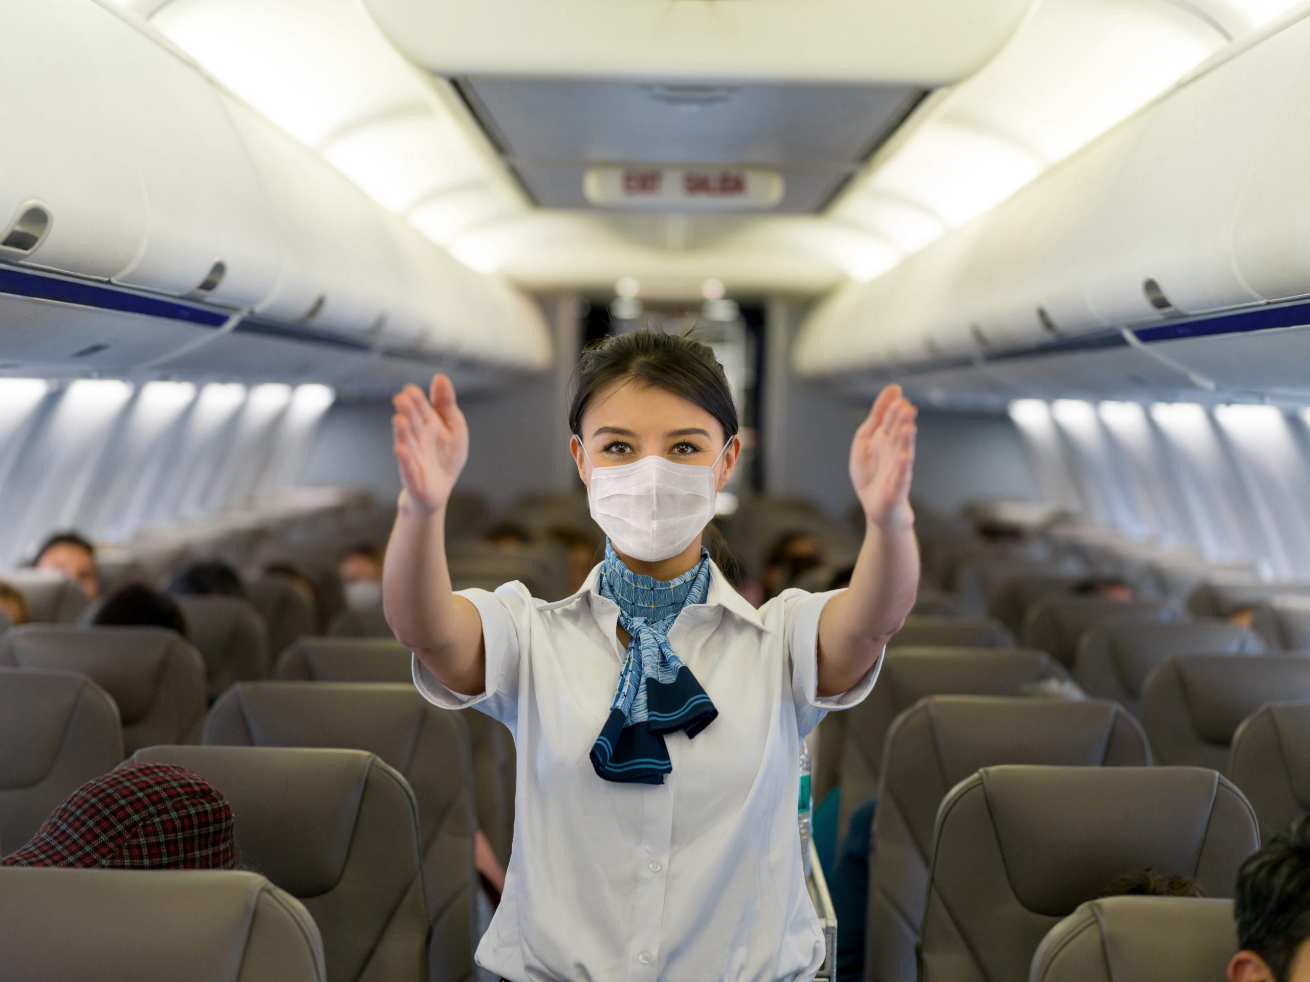
[[0, 665], [86, 674], [114, 697], [124, 725], [151, 711], [170, 657], [200, 656], [161, 627], [24, 625], [0, 638]]

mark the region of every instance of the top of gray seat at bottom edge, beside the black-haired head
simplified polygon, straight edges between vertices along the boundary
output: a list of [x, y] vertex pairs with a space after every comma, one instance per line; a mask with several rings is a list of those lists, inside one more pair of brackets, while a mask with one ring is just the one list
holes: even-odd
[[1237, 949], [1233, 901], [1107, 897], [1051, 930], [1028, 982], [1221, 982]]

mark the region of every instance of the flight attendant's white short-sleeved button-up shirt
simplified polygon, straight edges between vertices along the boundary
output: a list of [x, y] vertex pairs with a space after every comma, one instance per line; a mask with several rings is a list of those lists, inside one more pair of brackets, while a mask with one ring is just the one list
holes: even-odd
[[588, 754], [624, 648], [599, 568], [557, 604], [521, 583], [461, 592], [482, 615], [478, 695], [414, 660], [424, 697], [476, 706], [517, 745], [514, 847], [478, 964], [510, 982], [814, 978], [824, 940], [800, 865], [800, 740], [827, 710], [863, 699], [882, 659], [820, 699], [819, 615], [832, 594], [787, 591], [757, 611], [713, 567], [706, 602], [683, 609], [669, 643], [718, 719], [694, 740], [665, 737], [663, 784], [603, 780]]

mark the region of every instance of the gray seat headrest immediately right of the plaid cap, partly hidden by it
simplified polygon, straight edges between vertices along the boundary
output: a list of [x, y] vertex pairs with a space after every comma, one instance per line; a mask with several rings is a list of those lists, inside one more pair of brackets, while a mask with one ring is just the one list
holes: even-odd
[[341, 880], [369, 771], [390, 771], [362, 750], [149, 746], [128, 761], [176, 763], [214, 784], [232, 805], [237, 862], [259, 856], [259, 872], [296, 897]]

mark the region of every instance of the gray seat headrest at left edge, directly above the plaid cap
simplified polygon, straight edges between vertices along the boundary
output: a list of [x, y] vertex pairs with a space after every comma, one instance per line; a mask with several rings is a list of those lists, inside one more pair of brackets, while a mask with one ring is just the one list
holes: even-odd
[[97, 729], [119, 731], [121, 758], [118, 707], [103, 689], [72, 672], [0, 668], [0, 788], [30, 787], [50, 774], [83, 714], [96, 718]]

